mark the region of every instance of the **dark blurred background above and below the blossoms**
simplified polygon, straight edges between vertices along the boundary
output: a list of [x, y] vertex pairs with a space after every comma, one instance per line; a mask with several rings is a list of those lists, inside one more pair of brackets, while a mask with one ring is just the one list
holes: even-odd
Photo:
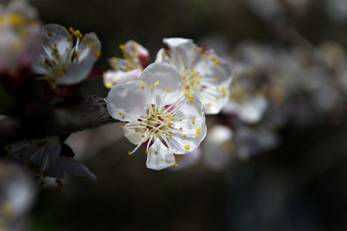
[[[341, 52], [347, 46], [346, 0], [29, 2], [44, 24], [96, 32], [102, 42], [96, 67], [104, 71], [110, 68], [107, 58], [121, 56], [119, 44], [130, 39], [149, 49], [151, 61], [165, 37], [191, 38], [200, 46], [214, 41], [224, 57], [246, 40], [281, 47], [319, 46], [332, 40], [341, 44]], [[85, 82], [83, 92], [106, 97], [108, 89], [99, 79]], [[296, 113], [296, 106], [290, 107], [291, 113]], [[224, 117], [206, 119], [211, 126]], [[54, 183], [40, 187], [28, 215], [28, 230], [347, 229], [344, 113], [310, 126], [288, 123], [276, 131], [281, 137], [277, 148], [247, 159], [233, 158], [218, 171], [203, 160], [176, 171], [150, 170], [142, 152], [127, 155], [132, 145], [122, 137], [119, 125], [73, 134], [68, 142], [76, 158], [98, 180], [67, 174], [61, 194]], [[28, 174], [31, 181], [29, 170]]]

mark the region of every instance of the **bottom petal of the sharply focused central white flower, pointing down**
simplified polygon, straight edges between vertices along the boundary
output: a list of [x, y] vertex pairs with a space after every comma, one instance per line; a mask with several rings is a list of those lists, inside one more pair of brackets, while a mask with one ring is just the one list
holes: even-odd
[[[156, 148], [155, 144], [153, 144], [149, 150], [150, 152], [147, 154], [146, 165], [147, 168], [151, 168], [154, 170], [161, 170], [163, 168], [167, 168], [175, 164], [175, 157], [172, 149], [169, 149], [165, 145], [163, 145], [160, 140], [157, 139]], [[157, 151], [158, 154], [154, 154], [154, 151]]]

